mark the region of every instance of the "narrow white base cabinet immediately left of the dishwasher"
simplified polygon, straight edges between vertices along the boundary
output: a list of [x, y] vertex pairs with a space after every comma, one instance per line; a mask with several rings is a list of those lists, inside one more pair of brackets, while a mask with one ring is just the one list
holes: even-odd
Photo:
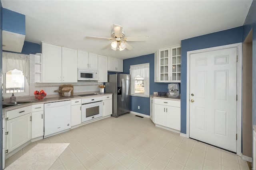
[[31, 138], [44, 136], [44, 104], [32, 105]]

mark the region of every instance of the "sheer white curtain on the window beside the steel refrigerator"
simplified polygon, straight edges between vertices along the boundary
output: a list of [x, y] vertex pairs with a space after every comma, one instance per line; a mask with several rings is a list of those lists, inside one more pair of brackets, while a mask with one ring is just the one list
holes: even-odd
[[144, 78], [144, 94], [146, 97], [149, 96], [149, 63], [131, 65], [130, 66], [131, 75], [131, 95], [135, 92], [135, 77], [140, 75]]

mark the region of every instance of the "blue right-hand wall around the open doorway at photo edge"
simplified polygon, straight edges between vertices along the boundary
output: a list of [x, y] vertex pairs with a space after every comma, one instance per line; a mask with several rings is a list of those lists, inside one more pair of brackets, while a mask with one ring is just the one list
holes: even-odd
[[244, 22], [243, 41], [252, 31], [252, 125], [256, 125], [256, 1], [252, 5]]

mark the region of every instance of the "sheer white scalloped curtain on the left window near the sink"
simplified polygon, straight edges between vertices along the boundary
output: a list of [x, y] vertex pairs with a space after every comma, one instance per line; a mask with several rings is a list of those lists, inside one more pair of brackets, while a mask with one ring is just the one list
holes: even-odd
[[18, 69], [27, 77], [29, 82], [29, 55], [3, 52], [3, 74], [10, 70]]

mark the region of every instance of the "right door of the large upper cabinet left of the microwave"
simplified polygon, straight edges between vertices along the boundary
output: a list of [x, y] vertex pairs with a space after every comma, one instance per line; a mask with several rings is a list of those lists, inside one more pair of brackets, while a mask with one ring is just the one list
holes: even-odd
[[62, 83], [77, 83], [77, 50], [62, 47]]

